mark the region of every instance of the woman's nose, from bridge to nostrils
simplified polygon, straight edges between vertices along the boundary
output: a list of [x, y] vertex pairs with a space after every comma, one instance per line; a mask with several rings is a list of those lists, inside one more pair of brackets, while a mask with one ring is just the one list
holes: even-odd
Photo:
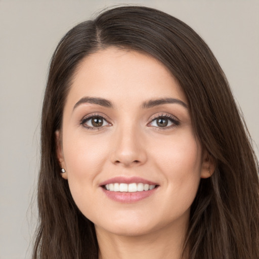
[[114, 133], [111, 161], [124, 167], [142, 165], [147, 161], [144, 137], [137, 128], [120, 128]]

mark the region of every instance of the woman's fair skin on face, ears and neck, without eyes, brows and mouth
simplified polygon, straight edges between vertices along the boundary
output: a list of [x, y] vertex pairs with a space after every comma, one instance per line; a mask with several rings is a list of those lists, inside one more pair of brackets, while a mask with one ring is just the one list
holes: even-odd
[[[104, 98], [113, 107], [76, 105], [83, 97]], [[159, 98], [186, 106], [143, 108]], [[103, 116], [103, 126], [93, 127], [91, 119], [81, 123], [91, 114]], [[174, 120], [161, 127], [156, 116]], [[62, 177], [78, 208], [95, 224], [100, 258], [180, 258], [190, 206], [200, 178], [210, 177], [213, 165], [194, 135], [185, 94], [164, 65], [115, 47], [85, 58], [67, 96], [62, 132], [56, 135], [66, 170]], [[117, 176], [141, 177], [158, 187], [143, 200], [117, 202], [100, 187]]]

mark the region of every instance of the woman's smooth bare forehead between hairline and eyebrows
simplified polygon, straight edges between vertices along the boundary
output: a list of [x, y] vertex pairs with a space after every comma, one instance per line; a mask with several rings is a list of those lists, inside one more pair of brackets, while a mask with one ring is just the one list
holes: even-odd
[[76, 103], [84, 96], [125, 104], [153, 98], [179, 98], [187, 103], [179, 83], [161, 62], [116, 47], [100, 50], [79, 64], [67, 101]]

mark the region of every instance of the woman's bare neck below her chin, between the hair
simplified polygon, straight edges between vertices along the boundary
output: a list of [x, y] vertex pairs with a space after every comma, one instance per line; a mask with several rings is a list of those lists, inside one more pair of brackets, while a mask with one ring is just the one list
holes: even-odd
[[186, 232], [179, 224], [148, 234], [122, 236], [96, 226], [99, 259], [182, 259]]

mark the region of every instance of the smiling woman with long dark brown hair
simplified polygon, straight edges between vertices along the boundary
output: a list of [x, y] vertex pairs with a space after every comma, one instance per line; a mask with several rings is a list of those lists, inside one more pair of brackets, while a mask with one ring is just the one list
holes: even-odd
[[259, 258], [258, 201], [249, 134], [189, 26], [119, 7], [63, 37], [33, 258]]

